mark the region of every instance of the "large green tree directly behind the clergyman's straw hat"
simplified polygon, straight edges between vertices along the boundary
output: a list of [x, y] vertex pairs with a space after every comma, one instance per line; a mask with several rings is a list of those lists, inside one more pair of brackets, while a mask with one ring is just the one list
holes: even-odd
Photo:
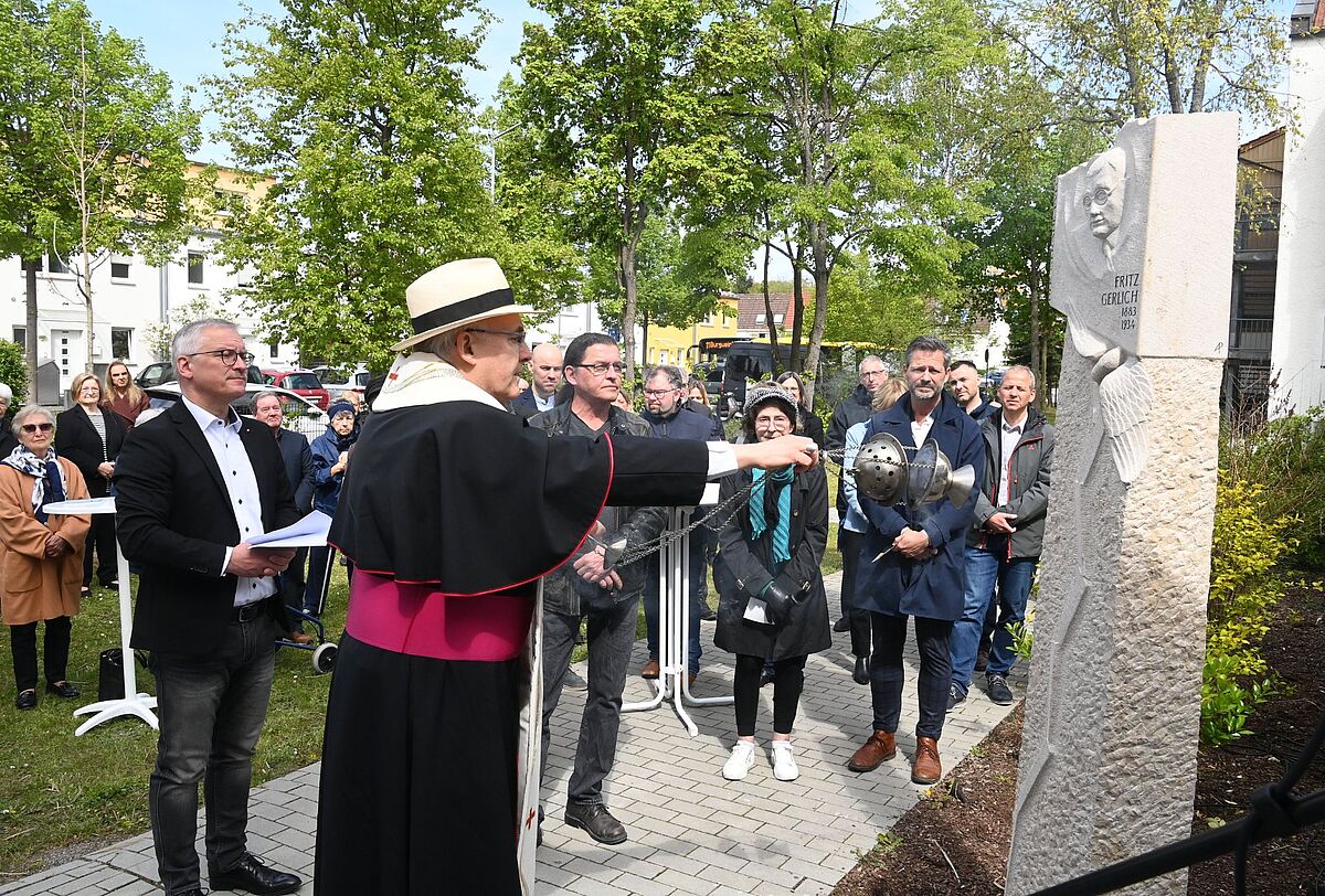
[[[405, 287], [494, 255], [522, 296], [537, 255], [488, 192], [466, 71], [489, 15], [476, 0], [284, 0], [228, 26], [209, 81], [241, 165], [276, 179], [224, 241], [273, 336], [331, 363], [382, 364], [409, 331]], [[260, 32], [261, 37], [254, 37]], [[254, 183], [257, 176], [254, 176]]]

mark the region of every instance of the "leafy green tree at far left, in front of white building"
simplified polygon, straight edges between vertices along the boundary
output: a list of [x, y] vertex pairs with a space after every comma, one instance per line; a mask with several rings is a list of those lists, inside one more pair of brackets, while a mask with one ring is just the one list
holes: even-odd
[[113, 254], [160, 262], [187, 237], [204, 180], [186, 177], [199, 116], [171, 98], [142, 44], [103, 30], [78, 0], [0, 12], [0, 253], [26, 262], [28, 371], [36, 376], [37, 262], [64, 257], [87, 310]]

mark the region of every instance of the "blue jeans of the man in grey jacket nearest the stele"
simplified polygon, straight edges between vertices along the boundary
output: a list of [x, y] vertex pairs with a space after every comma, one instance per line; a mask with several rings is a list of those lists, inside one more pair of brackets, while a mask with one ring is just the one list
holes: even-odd
[[[1031, 581], [1039, 557], [1006, 556], [1006, 543], [998, 551], [966, 548], [966, 594], [962, 618], [953, 625], [951, 655], [953, 684], [966, 694], [971, 687], [975, 655], [979, 650], [984, 618], [998, 589], [999, 622], [994, 630], [994, 651], [986, 675], [1007, 675], [1016, 656], [1007, 626], [1026, 619], [1026, 601], [1031, 594]], [[998, 659], [995, 659], [995, 652]]]

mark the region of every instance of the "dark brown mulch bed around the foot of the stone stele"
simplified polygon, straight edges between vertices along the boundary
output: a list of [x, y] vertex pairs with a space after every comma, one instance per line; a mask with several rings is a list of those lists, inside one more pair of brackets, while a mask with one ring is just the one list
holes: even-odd
[[[1292, 589], [1277, 607], [1265, 658], [1285, 687], [1252, 719], [1253, 735], [1202, 748], [1192, 831], [1246, 814], [1251, 795], [1277, 781], [1325, 715], [1325, 597]], [[835, 896], [941, 896], [1003, 892], [1016, 799], [1022, 708], [912, 807], [833, 889]], [[1325, 787], [1318, 756], [1297, 794]], [[1191, 870], [1187, 896], [1234, 892], [1232, 859]], [[1247, 892], [1325, 896], [1325, 825], [1252, 847]]]

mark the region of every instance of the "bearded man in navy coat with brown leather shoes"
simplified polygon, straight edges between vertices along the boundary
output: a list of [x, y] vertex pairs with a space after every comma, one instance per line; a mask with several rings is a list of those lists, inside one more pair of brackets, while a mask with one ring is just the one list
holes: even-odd
[[[949, 347], [921, 336], [906, 348], [908, 393], [869, 420], [864, 442], [878, 433], [894, 435], [908, 458], [934, 439], [954, 467], [971, 465], [982, 482], [984, 442], [979, 425], [943, 392]], [[901, 717], [902, 645], [906, 617], [916, 617], [921, 667], [920, 721], [912, 781], [934, 784], [942, 777], [938, 739], [943, 732], [951, 680], [949, 635], [962, 615], [966, 584], [966, 529], [978, 492], [961, 506], [946, 498], [930, 504], [885, 507], [860, 494], [869, 521], [856, 573], [856, 604], [869, 610], [874, 651], [869, 663], [873, 733], [847, 764], [871, 772], [897, 753], [894, 735]]]

